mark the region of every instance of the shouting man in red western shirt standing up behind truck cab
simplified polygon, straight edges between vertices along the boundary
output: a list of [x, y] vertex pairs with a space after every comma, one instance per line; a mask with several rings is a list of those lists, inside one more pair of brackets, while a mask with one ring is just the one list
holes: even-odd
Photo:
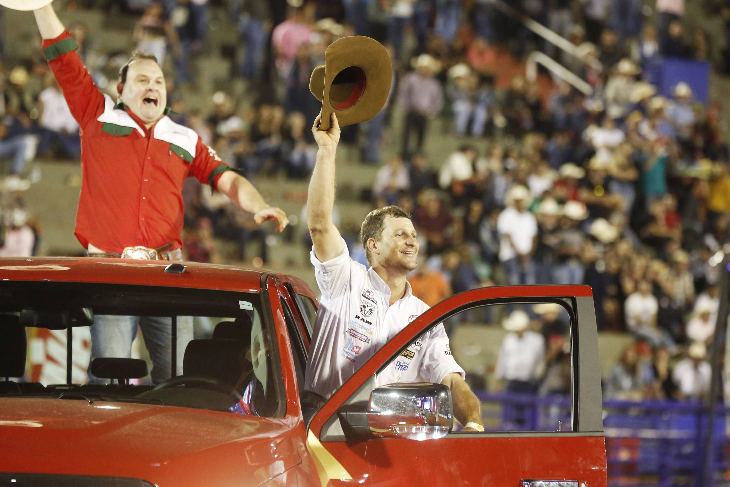
[[[82, 185], [74, 234], [89, 256], [181, 260], [181, 192], [191, 176], [253, 213], [256, 223], [277, 221], [277, 230], [284, 229], [288, 220], [282, 210], [266, 204], [195, 131], [167, 117], [164, 74], [153, 55], [134, 53], [120, 69], [114, 101], [93, 84], [53, 7], [34, 15], [43, 52], [81, 128]], [[130, 356], [137, 327], [153, 361], [153, 382], [159, 383], [172, 369], [169, 318], [96, 316], [91, 358]], [[191, 338], [192, 320], [179, 319], [177, 369]]]

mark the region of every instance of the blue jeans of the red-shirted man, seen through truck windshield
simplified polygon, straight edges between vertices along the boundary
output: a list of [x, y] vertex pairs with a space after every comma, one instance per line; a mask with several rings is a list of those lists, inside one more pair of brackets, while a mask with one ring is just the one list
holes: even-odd
[[[172, 376], [172, 318], [157, 316], [96, 315], [91, 326], [91, 358], [89, 383], [103, 383], [104, 379], [91, 375], [91, 361], [96, 357], [130, 358], [132, 342], [142, 330], [145, 345], [152, 360], [152, 382], [161, 383]], [[177, 374], [183, 373], [183, 356], [188, 342], [193, 339], [193, 318], [177, 317]]]

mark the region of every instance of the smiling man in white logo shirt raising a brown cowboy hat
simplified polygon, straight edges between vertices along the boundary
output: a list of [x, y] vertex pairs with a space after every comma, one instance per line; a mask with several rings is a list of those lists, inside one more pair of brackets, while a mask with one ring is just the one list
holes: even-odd
[[[371, 268], [350, 258], [332, 223], [335, 153], [339, 123], [312, 134], [319, 145], [307, 195], [312, 264], [322, 291], [312, 335], [304, 389], [323, 397], [343, 383], [408, 323], [429, 307], [411, 294], [406, 275], [416, 267], [418, 241], [410, 215], [399, 207], [374, 210], [365, 218], [361, 239]], [[443, 325], [423, 334], [388, 364], [377, 386], [426, 380], [451, 390], [454, 415], [466, 432], [484, 431], [480, 403], [451, 355]]]

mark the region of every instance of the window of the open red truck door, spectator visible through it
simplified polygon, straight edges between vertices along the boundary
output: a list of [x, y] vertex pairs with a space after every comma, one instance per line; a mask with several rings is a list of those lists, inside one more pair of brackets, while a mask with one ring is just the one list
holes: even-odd
[[431, 329], [431, 335], [423, 335], [381, 370], [377, 385], [434, 381], [409, 369], [428, 371], [433, 367], [429, 361], [452, 354], [480, 399], [485, 431], [572, 431], [572, 320], [567, 307], [558, 300], [480, 305], [442, 325], [447, 344], [425, 350], [440, 332], [439, 326]]

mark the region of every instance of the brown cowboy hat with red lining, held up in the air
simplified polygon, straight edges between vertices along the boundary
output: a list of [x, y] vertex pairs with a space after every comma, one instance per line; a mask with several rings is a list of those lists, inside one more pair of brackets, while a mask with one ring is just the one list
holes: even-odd
[[326, 64], [317, 66], [310, 91], [322, 102], [320, 130], [330, 127], [330, 114], [339, 126], [366, 122], [383, 110], [391, 91], [393, 65], [385, 47], [364, 36], [342, 37], [325, 51]]

